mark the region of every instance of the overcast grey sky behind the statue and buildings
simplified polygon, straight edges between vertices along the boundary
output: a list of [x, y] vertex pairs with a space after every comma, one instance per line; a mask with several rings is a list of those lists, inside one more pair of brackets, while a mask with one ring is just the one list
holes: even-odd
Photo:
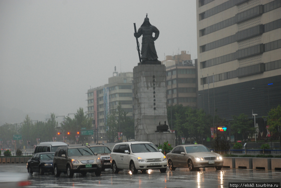
[[137, 66], [133, 23], [146, 13], [160, 31], [158, 60], [197, 58], [195, 0], [0, 0], [0, 126], [86, 111], [90, 86]]

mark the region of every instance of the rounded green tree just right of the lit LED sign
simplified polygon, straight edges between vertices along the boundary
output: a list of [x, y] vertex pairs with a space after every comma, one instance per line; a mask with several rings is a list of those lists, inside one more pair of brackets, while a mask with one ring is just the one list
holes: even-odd
[[233, 121], [231, 122], [231, 132], [234, 133], [234, 141], [236, 142], [237, 134], [243, 135], [244, 141], [247, 141], [249, 135], [255, 133], [255, 127], [253, 126], [253, 120], [249, 120], [248, 116], [244, 113], [239, 116], [232, 116]]

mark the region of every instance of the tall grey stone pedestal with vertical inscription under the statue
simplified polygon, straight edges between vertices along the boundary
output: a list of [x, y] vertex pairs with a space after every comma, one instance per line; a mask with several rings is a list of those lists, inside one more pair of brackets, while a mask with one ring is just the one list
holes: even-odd
[[166, 67], [161, 64], [139, 64], [133, 70], [135, 140], [155, 145], [169, 141], [175, 146], [175, 134], [155, 132], [159, 124], [168, 125], [166, 107]]

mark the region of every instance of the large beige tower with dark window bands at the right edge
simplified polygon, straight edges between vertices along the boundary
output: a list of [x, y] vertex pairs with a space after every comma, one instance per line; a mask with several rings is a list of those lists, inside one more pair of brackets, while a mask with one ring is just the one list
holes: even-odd
[[196, 0], [196, 9], [198, 107], [226, 120], [267, 116], [281, 103], [281, 0]]

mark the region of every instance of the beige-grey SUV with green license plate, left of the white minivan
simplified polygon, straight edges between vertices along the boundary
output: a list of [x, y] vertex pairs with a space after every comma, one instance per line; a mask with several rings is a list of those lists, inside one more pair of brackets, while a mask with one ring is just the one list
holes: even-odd
[[101, 160], [90, 148], [86, 146], [61, 146], [55, 152], [54, 173], [59, 177], [61, 172], [66, 172], [69, 178], [74, 173], [81, 173], [86, 176], [87, 172], [95, 172], [96, 176], [101, 175]]

